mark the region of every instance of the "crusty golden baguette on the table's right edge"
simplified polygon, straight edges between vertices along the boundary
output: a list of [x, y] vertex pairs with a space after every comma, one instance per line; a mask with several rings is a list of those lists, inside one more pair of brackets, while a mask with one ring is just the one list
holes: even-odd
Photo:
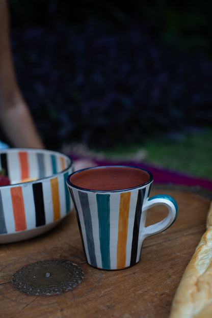
[[170, 318], [212, 317], [212, 203], [202, 235], [179, 286]]

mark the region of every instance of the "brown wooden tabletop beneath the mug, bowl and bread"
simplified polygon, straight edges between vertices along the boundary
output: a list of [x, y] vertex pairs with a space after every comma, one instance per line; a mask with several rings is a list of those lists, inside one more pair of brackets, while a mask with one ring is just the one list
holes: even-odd
[[[164, 188], [164, 189], [163, 189]], [[74, 211], [59, 226], [35, 239], [0, 246], [0, 317], [165, 318], [184, 269], [205, 231], [209, 197], [188, 188], [155, 186], [178, 202], [179, 215], [168, 230], [145, 240], [141, 261], [121, 271], [90, 267], [83, 254]], [[149, 210], [148, 225], [167, 213]], [[12, 275], [38, 260], [68, 259], [84, 271], [74, 289], [58, 295], [31, 296], [16, 289]]]

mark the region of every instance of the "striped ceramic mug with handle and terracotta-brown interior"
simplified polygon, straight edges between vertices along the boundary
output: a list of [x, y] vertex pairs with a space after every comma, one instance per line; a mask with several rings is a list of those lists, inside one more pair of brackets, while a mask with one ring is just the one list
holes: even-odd
[[[134, 266], [147, 236], [160, 233], [177, 218], [176, 201], [150, 196], [151, 172], [132, 166], [103, 166], [76, 171], [67, 177], [88, 263], [99, 269]], [[145, 226], [148, 208], [164, 204], [165, 219]]]

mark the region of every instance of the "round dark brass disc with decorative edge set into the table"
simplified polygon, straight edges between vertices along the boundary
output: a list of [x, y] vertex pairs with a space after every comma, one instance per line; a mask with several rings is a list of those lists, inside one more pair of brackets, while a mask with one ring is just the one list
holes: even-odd
[[13, 285], [31, 295], [51, 295], [73, 289], [83, 280], [83, 271], [69, 260], [44, 260], [22, 267], [12, 277]]

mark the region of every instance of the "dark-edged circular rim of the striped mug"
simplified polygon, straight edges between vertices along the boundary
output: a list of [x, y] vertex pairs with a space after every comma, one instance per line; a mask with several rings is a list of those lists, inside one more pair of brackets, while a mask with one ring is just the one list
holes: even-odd
[[[134, 168], [134, 169], [140, 169], [142, 171], [145, 171], [149, 174], [149, 180], [144, 182], [144, 183], [141, 183], [139, 184], [138, 186], [135, 186], [135, 187], [130, 187], [130, 188], [124, 188], [124, 189], [118, 189], [118, 190], [96, 190], [96, 189], [87, 189], [87, 188], [83, 188], [83, 187], [79, 187], [79, 186], [76, 186], [74, 183], [72, 183], [70, 181], [70, 178], [72, 177], [72, 175], [74, 174], [77, 174], [77, 173], [80, 173], [82, 171], [86, 171], [86, 170], [91, 170], [91, 169], [99, 169], [99, 168], [109, 168], [109, 167], [120, 167], [120, 168]], [[137, 166], [132, 166], [132, 165], [104, 165], [104, 166], [94, 166], [94, 167], [89, 167], [89, 168], [84, 168], [84, 169], [81, 169], [81, 170], [77, 170], [77, 171], [74, 171], [72, 172], [71, 174], [69, 174], [66, 178], [66, 183], [68, 184], [68, 186], [70, 187], [73, 187], [75, 189], [78, 189], [78, 190], [82, 190], [82, 191], [86, 191], [86, 192], [97, 192], [97, 193], [115, 193], [115, 192], [123, 192], [123, 191], [130, 191], [130, 190], [133, 190], [133, 189], [139, 189], [141, 187], [145, 187], [147, 186], [147, 184], [151, 183], [153, 181], [153, 175], [152, 173], [145, 169], [145, 168], [141, 168], [141, 167], [137, 167]]]

